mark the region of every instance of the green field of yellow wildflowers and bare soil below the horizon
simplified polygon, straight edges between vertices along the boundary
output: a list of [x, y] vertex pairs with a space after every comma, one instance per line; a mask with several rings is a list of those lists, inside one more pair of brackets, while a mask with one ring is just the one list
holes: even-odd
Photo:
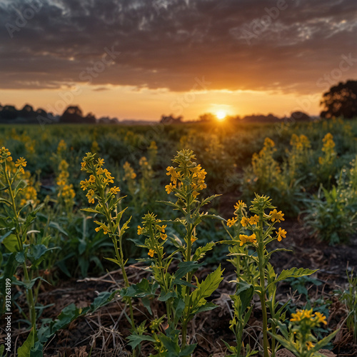
[[356, 137], [1, 126], [4, 354], [357, 356]]

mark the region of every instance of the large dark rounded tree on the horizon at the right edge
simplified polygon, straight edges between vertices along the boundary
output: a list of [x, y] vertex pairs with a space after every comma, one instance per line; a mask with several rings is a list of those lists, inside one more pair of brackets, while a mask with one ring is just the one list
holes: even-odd
[[357, 116], [357, 81], [340, 82], [323, 94], [320, 103], [323, 106], [322, 118], [343, 116], [351, 119]]

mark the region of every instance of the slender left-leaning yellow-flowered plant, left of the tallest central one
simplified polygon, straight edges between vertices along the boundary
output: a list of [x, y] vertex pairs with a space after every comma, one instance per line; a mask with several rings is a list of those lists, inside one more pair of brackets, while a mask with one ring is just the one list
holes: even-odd
[[[122, 197], [117, 198], [120, 189], [119, 187], [113, 186], [114, 177], [111, 176], [111, 173], [107, 169], [103, 169], [104, 159], [95, 159], [95, 156], [96, 154], [87, 153], [83, 158], [81, 171], [89, 174], [89, 178], [81, 181], [81, 188], [87, 191], [86, 197], [89, 203], [95, 203], [96, 207], [83, 208], [82, 211], [104, 216], [104, 223], [94, 221], [98, 225], [96, 231], [103, 231], [103, 233], [108, 234], [111, 241], [113, 241], [115, 258], [106, 259], [113, 261], [121, 268], [125, 286], [129, 287], [130, 283], [125, 271], [126, 259], [123, 253], [123, 237], [126, 229], [129, 228], [130, 218], [120, 226], [121, 216], [123, 216], [126, 210], [126, 208], [124, 208], [124, 210], [118, 212], [118, 205], [122, 200]], [[125, 300], [129, 303], [131, 326], [135, 329], [131, 299], [126, 298]]]

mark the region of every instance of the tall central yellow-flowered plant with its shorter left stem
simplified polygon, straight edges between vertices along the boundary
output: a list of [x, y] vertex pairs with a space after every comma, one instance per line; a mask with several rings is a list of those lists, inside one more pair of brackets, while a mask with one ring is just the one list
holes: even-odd
[[[135, 288], [124, 292], [126, 295], [144, 297], [155, 295], [156, 288], [159, 288], [158, 300], [165, 303], [166, 314], [151, 321], [151, 336], [144, 334], [146, 329], [143, 327], [141, 334], [129, 337], [131, 346], [138, 346], [141, 341], [151, 341], [157, 351], [155, 356], [189, 356], [193, 353], [196, 344], [190, 344], [192, 338], [188, 333], [188, 323], [198, 313], [216, 308], [206, 300], [223, 280], [221, 266], [201, 282], [194, 278], [194, 272], [203, 265], [198, 261], [214, 246], [213, 242], [198, 246], [196, 228], [203, 219], [218, 218], [201, 212], [201, 208], [215, 196], [198, 200], [201, 191], [206, 188], [206, 171], [195, 160], [196, 156], [191, 150], [178, 151], [173, 160], [176, 167], [167, 168], [171, 182], [166, 185], [166, 191], [174, 193], [176, 202], [164, 203], [179, 211], [181, 217], [175, 221], [161, 221], [154, 213], [144, 216], [138, 233], [146, 236], [141, 247], [148, 251], [152, 278], [150, 282], [144, 279]], [[180, 224], [183, 236], [168, 237], [168, 223]], [[172, 253], [166, 253], [169, 251], [166, 249], [169, 241], [174, 245], [174, 251], [171, 247]], [[178, 262], [177, 268], [174, 268], [175, 261]], [[148, 308], [151, 311], [150, 306]]]

